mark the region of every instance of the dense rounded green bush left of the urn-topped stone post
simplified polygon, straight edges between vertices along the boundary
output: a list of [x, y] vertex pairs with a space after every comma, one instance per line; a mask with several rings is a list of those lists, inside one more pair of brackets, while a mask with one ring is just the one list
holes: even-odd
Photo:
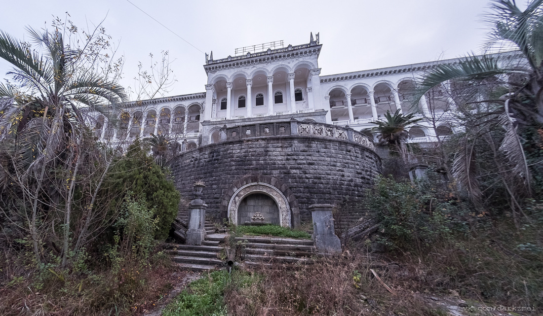
[[167, 171], [153, 162], [139, 141], [131, 145], [126, 156], [111, 168], [102, 190], [102, 201], [109, 203], [114, 213], [129, 191], [135, 199], [144, 199], [148, 207], [154, 209], [154, 218], [158, 219], [154, 238], [166, 239], [177, 214], [180, 195]]

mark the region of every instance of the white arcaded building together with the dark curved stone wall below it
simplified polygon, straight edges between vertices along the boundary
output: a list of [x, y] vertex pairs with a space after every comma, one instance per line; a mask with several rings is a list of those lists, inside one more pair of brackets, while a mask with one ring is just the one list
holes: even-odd
[[[381, 160], [374, 136], [361, 131], [386, 112], [412, 112], [406, 92], [416, 78], [457, 61], [321, 76], [322, 47], [317, 34], [297, 46], [272, 42], [224, 59], [206, 54], [205, 92], [132, 102], [117, 129], [97, 116], [96, 136], [116, 146], [167, 134], [179, 143], [176, 185], [191, 197], [192, 185], [206, 182], [209, 218], [244, 224], [258, 210], [267, 222], [299, 227], [310, 220], [312, 204], [363, 197]], [[409, 142], [455, 132], [446, 119], [454, 102], [439, 88], [414, 111], [427, 119], [409, 129]]]

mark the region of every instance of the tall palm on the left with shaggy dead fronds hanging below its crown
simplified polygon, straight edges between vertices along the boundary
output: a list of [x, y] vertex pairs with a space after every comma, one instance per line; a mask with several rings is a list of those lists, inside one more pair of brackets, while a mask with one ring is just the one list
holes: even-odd
[[[64, 191], [54, 193], [65, 208], [62, 210], [65, 214], [63, 265], [68, 252], [71, 199], [80, 170], [81, 144], [87, 132], [80, 108], [87, 106], [91, 111], [113, 114], [115, 105], [127, 99], [116, 80], [108, 79], [98, 70], [100, 66], [111, 66], [103, 63], [104, 56], [108, 57], [101, 53], [108, 45], [103, 34], [98, 28], [92, 34], [84, 34], [84, 46], [79, 47], [70, 40], [75, 31], [59, 29], [59, 25], [54, 31], [28, 28], [35, 49], [0, 31], [0, 58], [14, 67], [8, 73], [11, 81], [0, 83], [0, 100], [9, 101], [7, 105], [3, 102], [0, 113], [0, 151], [3, 151], [0, 158], [10, 159], [12, 170], [19, 172], [16, 180], [26, 179], [20, 186], [27, 186], [22, 191], [31, 201], [28, 229], [37, 262], [40, 262], [36, 233], [39, 208], [53, 204], [43, 201], [43, 197], [52, 198], [50, 184], [59, 182], [49, 179], [46, 171], [59, 165], [68, 169], [70, 178], [64, 179], [66, 184], [56, 186]], [[4, 163], [0, 164], [0, 177], [9, 176]]]

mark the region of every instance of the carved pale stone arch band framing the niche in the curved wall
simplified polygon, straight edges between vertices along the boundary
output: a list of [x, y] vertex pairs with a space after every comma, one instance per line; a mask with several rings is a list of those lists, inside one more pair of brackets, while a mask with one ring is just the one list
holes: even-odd
[[282, 227], [291, 227], [291, 208], [287, 198], [274, 186], [266, 183], [250, 183], [239, 188], [230, 198], [228, 218], [230, 223], [238, 222], [238, 208], [243, 199], [251, 194], [265, 194], [271, 197], [279, 208], [279, 223]]

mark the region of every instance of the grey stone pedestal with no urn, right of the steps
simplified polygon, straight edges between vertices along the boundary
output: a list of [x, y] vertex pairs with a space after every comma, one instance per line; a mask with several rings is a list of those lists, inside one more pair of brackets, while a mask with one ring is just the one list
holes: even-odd
[[334, 230], [331, 204], [313, 204], [309, 207], [313, 218], [313, 241], [321, 253], [341, 253], [341, 242]]

